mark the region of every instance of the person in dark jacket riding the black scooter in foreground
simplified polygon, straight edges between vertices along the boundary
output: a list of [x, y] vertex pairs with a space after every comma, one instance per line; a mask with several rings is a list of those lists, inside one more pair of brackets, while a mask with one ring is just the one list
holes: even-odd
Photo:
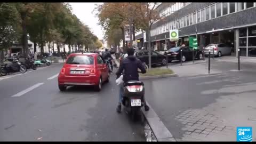
[[[128, 56], [124, 58], [119, 66], [118, 71], [116, 72], [117, 78], [123, 74], [124, 78], [123, 81], [128, 82], [128, 81], [139, 81], [139, 72], [138, 68], [141, 70], [142, 74], [146, 73], [145, 67], [143, 67], [142, 62], [137, 59], [133, 54], [134, 50], [133, 49], [128, 49], [127, 50]], [[124, 72], [123, 72], [124, 70]], [[123, 98], [123, 93], [124, 93], [124, 87], [121, 84], [120, 89], [119, 89], [119, 101], [118, 101], [118, 106], [116, 108], [118, 113], [121, 113], [121, 103], [122, 103], [122, 98]], [[142, 101], [145, 103], [145, 110], [148, 111], [149, 107], [146, 104], [145, 97], [143, 95]]]

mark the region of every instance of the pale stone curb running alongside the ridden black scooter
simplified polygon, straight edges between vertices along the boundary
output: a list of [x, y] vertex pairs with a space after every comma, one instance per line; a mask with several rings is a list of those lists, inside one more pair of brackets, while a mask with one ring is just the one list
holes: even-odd
[[148, 125], [153, 131], [157, 141], [177, 141], [175, 140], [171, 132], [165, 127], [161, 119], [157, 116], [154, 109], [149, 105], [148, 102], [147, 104], [150, 109], [148, 111], [142, 109], [142, 113], [145, 116]]

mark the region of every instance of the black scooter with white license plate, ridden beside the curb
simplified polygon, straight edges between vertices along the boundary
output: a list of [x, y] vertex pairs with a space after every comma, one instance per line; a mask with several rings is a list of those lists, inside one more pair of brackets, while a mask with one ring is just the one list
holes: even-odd
[[122, 104], [126, 112], [131, 115], [133, 121], [135, 121], [137, 116], [141, 118], [141, 121], [143, 121], [141, 107], [144, 106], [144, 94], [145, 88], [143, 82], [128, 81], [124, 83], [124, 95]]

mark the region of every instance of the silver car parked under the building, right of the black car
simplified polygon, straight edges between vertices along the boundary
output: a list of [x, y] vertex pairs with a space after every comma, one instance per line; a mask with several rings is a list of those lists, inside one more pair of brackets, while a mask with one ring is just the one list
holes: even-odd
[[232, 47], [228, 46], [227, 44], [209, 44], [205, 47], [204, 52], [205, 55], [209, 55], [209, 50], [211, 52], [211, 55], [214, 50], [214, 56], [221, 57], [222, 55], [231, 55]]

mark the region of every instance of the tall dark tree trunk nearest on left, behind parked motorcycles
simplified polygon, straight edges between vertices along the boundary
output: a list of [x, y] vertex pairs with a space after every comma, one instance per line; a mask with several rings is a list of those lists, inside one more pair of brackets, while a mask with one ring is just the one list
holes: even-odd
[[21, 13], [21, 26], [22, 26], [22, 48], [23, 48], [23, 56], [27, 58], [28, 55], [28, 35], [27, 35], [27, 27], [25, 19], [27, 17], [26, 12]]

